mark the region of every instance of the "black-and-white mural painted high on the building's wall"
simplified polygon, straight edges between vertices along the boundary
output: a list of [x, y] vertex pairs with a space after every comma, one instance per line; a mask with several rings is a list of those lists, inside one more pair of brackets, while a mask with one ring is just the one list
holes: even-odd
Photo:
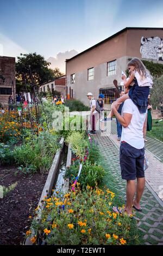
[[163, 60], [163, 39], [158, 36], [142, 36], [140, 53], [143, 59]]

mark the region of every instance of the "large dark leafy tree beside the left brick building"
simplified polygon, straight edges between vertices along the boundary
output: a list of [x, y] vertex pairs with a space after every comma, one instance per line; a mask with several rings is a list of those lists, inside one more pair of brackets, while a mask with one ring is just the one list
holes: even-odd
[[46, 62], [44, 57], [40, 54], [28, 53], [21, 54], [22, 57], [17, 57], [16, 63], [16, 80], [17, 82], [22, 83], [22, 74], [27, 84], [30, 84], [32, 81], [29, 76], [28, 66], [32, 71], [33, 78], [37, 84], [42, 84], [54, 79], [54, 73], [51, 69], [48, 69], [48, 66], [51, 64]]

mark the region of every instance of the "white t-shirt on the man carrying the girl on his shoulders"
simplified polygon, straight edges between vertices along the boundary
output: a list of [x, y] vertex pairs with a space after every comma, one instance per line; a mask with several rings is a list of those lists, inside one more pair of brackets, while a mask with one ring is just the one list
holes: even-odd
[[143, 125], [146, 119], [146, 113], [140, 113], [139, 109], [131, 99], [124, 101], [122, 113], [132, 114], [129, 125], [124, 128], [122, 126], [121, 141], [126, 141], [129, 145], [136, 149], [142, 149], [145, 146], [143, 138]]

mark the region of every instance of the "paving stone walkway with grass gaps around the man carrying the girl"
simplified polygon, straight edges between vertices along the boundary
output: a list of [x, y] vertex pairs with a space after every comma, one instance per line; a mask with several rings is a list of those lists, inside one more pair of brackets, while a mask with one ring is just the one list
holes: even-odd
[[[107, 122], [108, 123], [108, 122]], [[104, 161], [114, 177], [120, 197], [126, 198], [126, 181], [121, 179], [119, 161], [120, 142], [117, 141], [116, 123], [108, 123], [107, 133], [97, 131], [93, 138], [98, 140], [99, 149]], [[98, 125], [98, 124], [97, 124]], [[138, 222], [139, 235], [143, 237], [144, 245], [163, 245], [163, 143], [147, 138], [146, 155], [149, 167], [146, 170], [146, 187], [141, 198], [142, 212], [135, 211], [134, 218]]]

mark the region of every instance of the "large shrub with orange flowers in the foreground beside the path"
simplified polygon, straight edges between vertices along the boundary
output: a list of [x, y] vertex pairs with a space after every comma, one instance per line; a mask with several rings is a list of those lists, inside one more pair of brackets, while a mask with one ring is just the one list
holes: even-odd
[[[79, 184], [77, 184], [79, 185]], [[40, 221], [34, 220], [29, 236], [37, 245], [129, 245], [137, 236], [130, 235], [130, 217], [112, 212], [114, 193], [90, 186], [83, 191], [44, 198]], [[38, 209], [36, 209], [37, 211]]]

